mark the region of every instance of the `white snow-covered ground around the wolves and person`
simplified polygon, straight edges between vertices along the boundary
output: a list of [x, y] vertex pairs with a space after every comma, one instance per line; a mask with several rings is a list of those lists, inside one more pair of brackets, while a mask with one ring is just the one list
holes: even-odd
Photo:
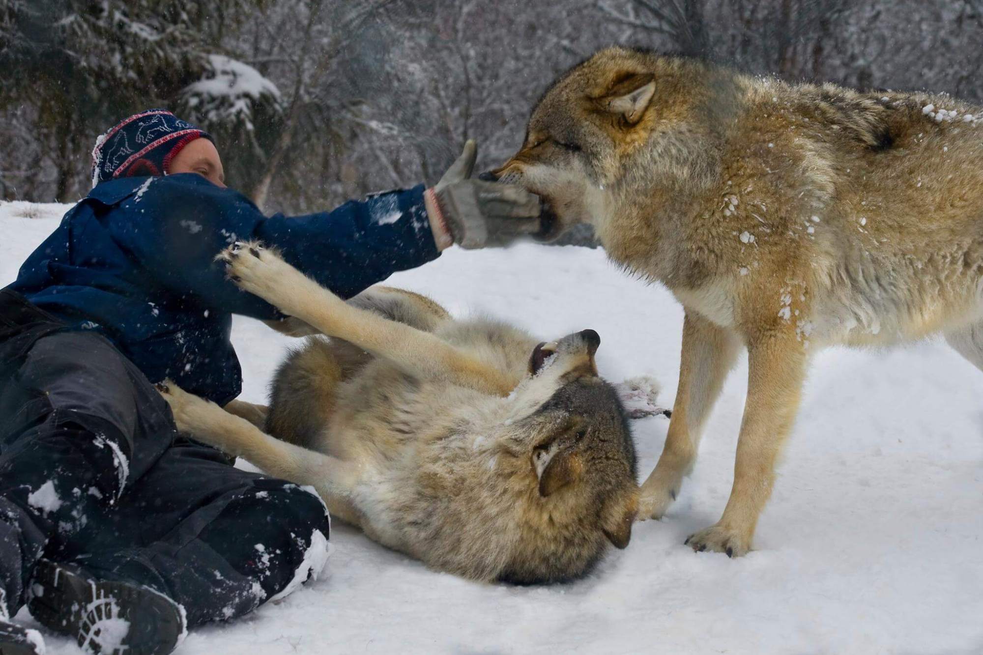
[[[63, 210], [0, 204], [0, 286]], [[655, 376], [671, 403], [682, 312], [602, 251], [455, 248], [389, 283], [544, 338], [597, 329], [603, 375]], [[262, 401], [288, 340], [249, 320], [236, 322], [233, 340], [244, 398]], [[746, 374], [743, 363], [727, 382], [665, 520], [637, 523], [627, 550], [588, 579], [475, 584], [335, 523], [315, 584], [194, 631], [179, 652], [983, 653], [983, 374], [936, 341], [823, 352], [756, 550], [694, 554], [683, 540], [717, 520], [730, 490]], [[666, 427], [662, 417], [634, 423], [643, 477]], [[46, 636], [49, 652], [78, 652]]]

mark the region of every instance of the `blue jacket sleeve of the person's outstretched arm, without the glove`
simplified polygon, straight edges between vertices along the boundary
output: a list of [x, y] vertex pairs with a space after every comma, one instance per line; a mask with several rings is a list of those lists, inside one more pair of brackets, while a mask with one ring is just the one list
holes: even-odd
[[275, 245], [296, 268], [350, 297], [397, 270], [434, 260], [422, 186], [332, 211], [265, 216], [241, 194], [195, 174], [152, 178], [141, 197], [113, 212], [116, 240], [146, 273], [173, 293], [216, 310], [280, 318], [268, 303], [226, 279], [215, 255], [235, 241]]

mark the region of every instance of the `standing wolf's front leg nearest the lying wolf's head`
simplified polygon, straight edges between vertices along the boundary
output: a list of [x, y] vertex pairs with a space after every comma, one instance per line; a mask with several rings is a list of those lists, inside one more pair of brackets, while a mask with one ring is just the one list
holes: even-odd
[[639, 520], [662, 518], [696, 461], [703, 427], [733, 367], [740, 342], [733, 332], [686, 311], [682, 327], [679, 387], [663, 454], [642, 485]]

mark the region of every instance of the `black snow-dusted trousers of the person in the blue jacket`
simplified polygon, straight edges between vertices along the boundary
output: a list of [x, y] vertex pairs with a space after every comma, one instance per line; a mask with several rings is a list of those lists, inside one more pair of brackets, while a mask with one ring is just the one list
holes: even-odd
[[182, 437], [110, 341], [0, 290], [0, 599], [11, 616], [43, 557], [160, 591], [190, 626], [231, 619], [317, 575], [327, 537], [313, 492]]

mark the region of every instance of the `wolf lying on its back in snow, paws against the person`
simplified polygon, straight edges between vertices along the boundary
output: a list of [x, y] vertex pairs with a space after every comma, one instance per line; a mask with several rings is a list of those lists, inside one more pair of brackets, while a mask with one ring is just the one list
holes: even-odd
[[465, 577], [567, 580], [608, 542], [628, 544], [635, 452], [598, 377], [597, 332], [537, 344], [397, 289], [345, 303], [256, 246], [223, 258], [243, 289], [337, 338], [310, 340], [278, 372], [266, 425], [283, 441], [168, 385], [181, 430], [313, 485], [372, 539]]

